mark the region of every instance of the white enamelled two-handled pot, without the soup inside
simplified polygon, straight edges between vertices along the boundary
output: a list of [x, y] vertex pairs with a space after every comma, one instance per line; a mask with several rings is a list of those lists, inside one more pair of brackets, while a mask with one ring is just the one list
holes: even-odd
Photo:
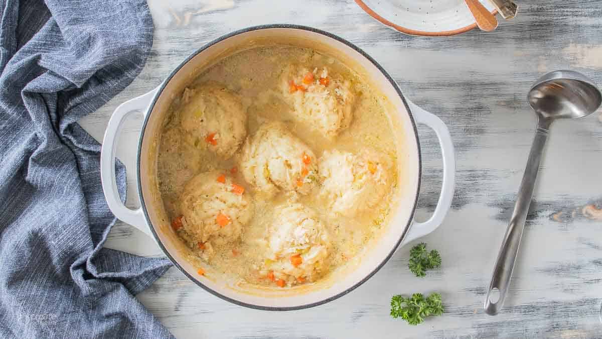
[[[193, 265], [185, 259], [186, 250], [182, 242], [169, 226], [163, 203], [157, 189], [157, 147], [161, 124], [173, 98], [179, 95], [202, 69], [223, 58], [229, 53], [261, 41], [283, 41], [294, 45], [327, 49], [330, 54], [347, 60], [377, 86], [389, 101], [389, 115], [396, 128], [397, 142], [403, 145], [404, 156], [400, 160], [400, 174], [403, 174], [399, 208], [383, 235], [377, 240], [361, 261], [337, 276], [323, 279], [308, 287], [285, 293], [268, 290], [241, 290], [231, 284], [211, 279], [211, 274], [199, 276]], [[116, 136], [120, 125], [129, 113], [144, 113], [144, 124], [140, 133], [137, 154], [137, 182], [141, 207], [135, 210], [126, 208], [119, 198], [115, 182]], [[421, 176], [420, 146], [416, 123], [432, 128], [439, 139], [443, 160], [443, 184], [438, 205], [432, 217], [424, 223], [413, 221], [418, 200]], [[455, 155], [449, 131], [441, 119], [437, 118], [403, 97], [397, 84], [382, 67], [364, 51], [340, 37], [296, 25], [265, 25], [246, 28], [200, 48], [190, 55], [170, 74], [161, 86], [140, 97], [121, 104], [109, 121], [101, 154], [102, 188], [111, 211], [125, 223], [137, 227], [152, 236], [163, 252], [182, 273], [205, 290], [238, 305], [259, 309], [288, 310], [308, 308], [337, 299], [349, 293], [373, 276], [401, 244], [406, 244], [435, 230], [443, 221], [450, 208], [455, 182]], [[209, 268], [211, 269], [211, 268]], [[290, 291], [289, 291], [290, 292]]]

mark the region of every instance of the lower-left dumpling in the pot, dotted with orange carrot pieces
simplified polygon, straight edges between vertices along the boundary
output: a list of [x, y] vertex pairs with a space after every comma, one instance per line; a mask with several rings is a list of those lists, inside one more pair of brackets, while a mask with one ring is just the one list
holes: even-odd
[[190, 179], [180, 197], [184, 230], [200, 248], [209, 242], [222, 245], [240, 239], [243, 226], [253, 217], [253, 201], [243, 186], [219, 171]]

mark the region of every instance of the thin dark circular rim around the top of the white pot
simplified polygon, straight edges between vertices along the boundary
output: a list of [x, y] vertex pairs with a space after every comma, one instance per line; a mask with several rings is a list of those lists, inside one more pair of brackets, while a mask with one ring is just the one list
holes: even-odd
[[[241, 302], [240, 300], [232, 299], [231, 297], [225, 296], [222, 293], [219, 293], [218, 291], [215, 291], [215, 290], [207, 287], [205, 284], [203, 284], [202, 282], [197, 280], [195, 277], [193, 277], [191, 274], [189, 274], [173, 258], [171, 253], [169, 253], [167, 251], [166, 247], [163, 245], [163, 242], [161, 242], [161, 240], [159, 239], [159, 236], [157, 235], [155, 228], [152, 227], [152, 223], [150, 221], [151, 218], [149, 217], [148, 211], [146, 209], [146, 204], [144, 203], [144, 197], [142, 194], [142, 180], [140, 180], [140, 178], [141, 178], [140, 159], [141, 159], [141, 153], [142, 153], [142, 142], [144, 140], [144, 133], [146, 131], [146, 125], [149, 121], [149, 118], [151, 117], [151, 112], [155, 107], [155, 103], [157, 103], [157, 99], [161, 96], [161, 93], [163, 92], [163, 90], [165, 89], [165, 87], [167, 86], [169, 81], [172, 80], [172, 78], [180, 71], [180, 69], [184, 65], [186, 65], [188, 62], [190, 62], [190, 60], [192, 60], [194, 57], [196, 57], [196, 55], [198, 55], [200, 52], [205, 51], [205, 49], [209, 48], [210, 46], [216, 45], [217, 43], [222, 42], [223, 40], [229, 39], [230, 37], [237, 36], [239, 34], [248, 33], [250, 31], [273, 29], [273, 28], [304, 30], [304, 31], [312, 32], [312, 33], [321, 34], [323, 36], [329, 37], [330, 39], [334, 39], [334, 40], [337, 40], [338, 42], [344, 43], [345, 45], [349, 46], [350, 48], [352, 48], [353, 50], [355, 50], [356, 52], [361, 54], [362, 57], [364, 57], [365, 59], [370, 61], [370, 63], [372, 63], [379, 70], [379, 72], [381, 72], [382, 75], [385, 76], [386, 80], [389, 81], [391, 86], [393, 86], [393, 88], [397, 92], [397, 95], [399, 95], [404, 106], [406, 107], [410, 121], [412, 122], [412, 128], [414, 128], [414, 136], [416, 139], [417, 153], [418, 153], [418, 185], [417, 185], [417, 191], [415, 193], [415, 198], [414, 198], [414, 206], [412, 206], [412, 210], [411, 210], [409, 218], [408, 218], [408, 223], [405, 226], [405, 230], [403, 231], [402, 236], [400, 236], [400, 238], [397, 241], [397, 243], [395, 244], [395, 246], [393, 246], [393, 248], [391, 249], [391, 252], [389, 252], [389, 254], [383, 259], [382, 262], [380, 262], [379, 265], [377, 265], [372, 271], [370, 271], [370, 273], [368, 273], [363, 279], [356, 282], [356, 284], [354, 284], [352, 287], [349, 287], [346, 290], [335, 294], [334, 296], [327, 297], [326, 299], [322, 299], [322, 300], [318, 300], [317, 302], [306, 303], [306, 304], [298, 305], [298, 306], [262, 306], [262, 305], [255, 305], [255, 304], [251, 304], [251, 303]], [[142, 124], [141, 131], [140, 131], [140, 138], [138, 139], [136, 174], [137, 174], [136, 179], [137, 179], [137, 188], [138, 188], [138, 198], [140, 198], [140, 206], [142, 208], [142, 211], [144, 212], [144, 218], [146, 218], [146, 223], [149, 225], [149, 229], [151, 229], [152, 235], [154, 236], [155, 241], [157, 242], [159, 247], [161, 247], [161, 250], [163, 251], [163, 253], [167, 256], [167, 258], [169, 258], [169, 260], [173, 263], [173, 265], [175, 265], [175, 267], [178, 268], [179, 271], [181, 271], [185, 276], [188, 277], [188, 279], [192, 280], [199, 287], [203, 288], [203, 290], [213, 294], [214, 296], [217, 296], [223, 300], [226, 300], [228, 302], [234, 303], [239, 306], [244, 306], [244, 307], [253, 308], [253, 309], [261, 309], [264, 311], [294, 311], [297, 309], [306, 309], [306, 308], [312, 308], [314, 306], [323, 305], [324, 303], [331, 302], [332, 300], [338, 299], [338, 298], [344, 296], [345, 294], [350, 293], [351, 291], [358, 288], [360, 285], [364, 284], [364, 282], [366, 282], [374, 274], [376, 274], [376, 272], [379, 271], [380, 268], [382, 268], [386, 264], [386, 262], [389, 261], [389, 259], [391, 259], [393, 254], [399, 248], [399, 245], [401, 244], [401, 242], [403, 241], [405, 236], [408, 234], [408, 230], [410, 229], [412, 221], [414, 220], [414, 213], [416, 211], [416, 206], [418, 204], [418, 195], [420, 194], [420, 184], [421, 184], [421, 177], [422, 177], [422, 155], [421, 155], [421, 151], [420, 151], [420, 141], [418, 139], [418, 129], [416, 127], [416, 122], [414, 121], [414, 116], [412, 116], [412, 112], [410, 110], [410, 107], [408, 106], [408, 102], [406, 101], [405, 97], [403, 96], [402, 91], [397, 86], [397, 83], [395, 82], [395, 80], [393, 80], [391, 75], [389, 75], [385, 71], [385, 69], [382, 68], [382, 66], [380, 66], [380, 64], [378, 62], [376, 62], [376, 60], [374, 60], [372, 57], [370, 57], [370, 55], [368, 55], [366, 52], [364, 52], [358, 46], [347, 41], [346, 39], [336, 36], [335, 34], [328, 33], [327, 31], [319, 30], [318, 28], [313, 28], [313, 27], [308, 27], [308, 26], [303, 26], [303, 25], [294, 25], [294, 24], [266, 24], [266, 25], [251, 26], [251, 27], [247, 27], [247, 28], [242, 28], [240, 30], [232, 31], [231, 33], [225, 34], [223, 36], [218, 37], [217, 39], [212, 40], [211, 42], [206, 43], [204, 46], [200, 47], [199, 49], [194, 51], [192, 54], [190, 54], [178, 66], [176, 66], [176, 68], [173, 69], [173, 71], [165, 78], [165, 80], [163, 80], [161, 85], [158, 87], [157, 93], [155, 93], [155, 96], [152, 98], [151, 104], [149, 105], [146, 115], [144, 116], [144, 122]]]

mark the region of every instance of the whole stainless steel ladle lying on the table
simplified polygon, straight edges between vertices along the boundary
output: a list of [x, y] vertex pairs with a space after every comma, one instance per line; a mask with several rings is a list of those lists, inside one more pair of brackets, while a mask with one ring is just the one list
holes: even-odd
[[556, 119], [576, 119], [594, 113], [602, 103], [602, 94], [594, 81], [583, 74], [555, 71], [539, 78], [529, 90], [527, 99], [537, 116], [537, 130], [523, 181], [518, 189], [514, 212], [501, 243], [487, 291], [484, 308], [489, 315], [498, 314], [510, 285], [550, 125]]

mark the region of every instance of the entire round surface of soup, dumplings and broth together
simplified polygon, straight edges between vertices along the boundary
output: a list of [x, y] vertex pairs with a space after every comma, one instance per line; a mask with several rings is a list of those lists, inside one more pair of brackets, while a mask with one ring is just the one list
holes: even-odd
[[397, 148], [385, 109], [340, 60], [263, 46], [204, 71], [170, 107], [158, 175], [191, 262], [244, 284], [311, 284], [388, 221]]

